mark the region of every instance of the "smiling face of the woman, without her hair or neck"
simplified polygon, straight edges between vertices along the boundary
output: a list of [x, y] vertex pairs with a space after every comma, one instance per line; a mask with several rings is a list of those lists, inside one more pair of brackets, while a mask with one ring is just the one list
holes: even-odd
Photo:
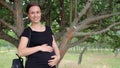
[[28, 17], [32, 23], [39, 23], [41, 20], [41, 10], [39, 6], [29, 8]]

